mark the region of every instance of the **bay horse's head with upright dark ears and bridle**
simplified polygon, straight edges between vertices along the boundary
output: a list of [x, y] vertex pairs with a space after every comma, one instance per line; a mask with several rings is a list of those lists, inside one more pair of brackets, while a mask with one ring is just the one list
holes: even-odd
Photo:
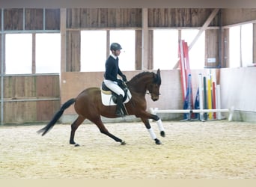
[[153, 73], [153, 82], [147, 85], [147, 91], [149, 91], [151, 95], [151, 99], [156, 101], [159, 99], [159, 88], [161, 85], [161, 76], [160, 70], [158, 69], [156, 73]]

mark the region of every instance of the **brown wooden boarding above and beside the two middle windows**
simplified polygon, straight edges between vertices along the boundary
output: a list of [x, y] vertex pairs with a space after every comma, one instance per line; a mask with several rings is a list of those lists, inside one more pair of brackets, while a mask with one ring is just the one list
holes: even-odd
[[[200, 8], [150, 8], [148, 9], [148, 63], [147, 69], [153, 69], [153, 28], [198, 28], [204, 25], [213, 9]], [[90, 29], [135, 29], [135, 70], [142, 70], [142, 15], [138, 8], [73, 8], [67, 9], [67, 25], [64, 32], [67, 35], [66, 70], [76, 72], [80, 70], [80, 31]], [[219, 25], [218, 17], [214, 18], [210, 26]], [[216, 34], [216, 33], [214, 33]], [[215, 37], [215, 36], [213, 36]], [[212, 36], [210, 39], [213, 40]], [[213, 43], [215, 43], [213, 41]], [[212, 46], [209, 46], [209, 48]], [[213, 46], [216, 47], [216, 46]], [[209, 54], [213, 55], [213, 54]], [[218, 52], [216, 52], [218, 56]], [[218, 59], [217, 59], [218, 60]], [[218, 63], [218, 61], [216, 62]], [[210, 64], [216, 67], [216, 64]]]

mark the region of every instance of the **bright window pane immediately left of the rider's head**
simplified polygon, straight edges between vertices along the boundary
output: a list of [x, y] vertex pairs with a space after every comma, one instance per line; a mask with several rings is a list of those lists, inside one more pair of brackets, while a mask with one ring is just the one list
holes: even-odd
[[105, 71], [106, 31], [81, 31], [81, 71]]

